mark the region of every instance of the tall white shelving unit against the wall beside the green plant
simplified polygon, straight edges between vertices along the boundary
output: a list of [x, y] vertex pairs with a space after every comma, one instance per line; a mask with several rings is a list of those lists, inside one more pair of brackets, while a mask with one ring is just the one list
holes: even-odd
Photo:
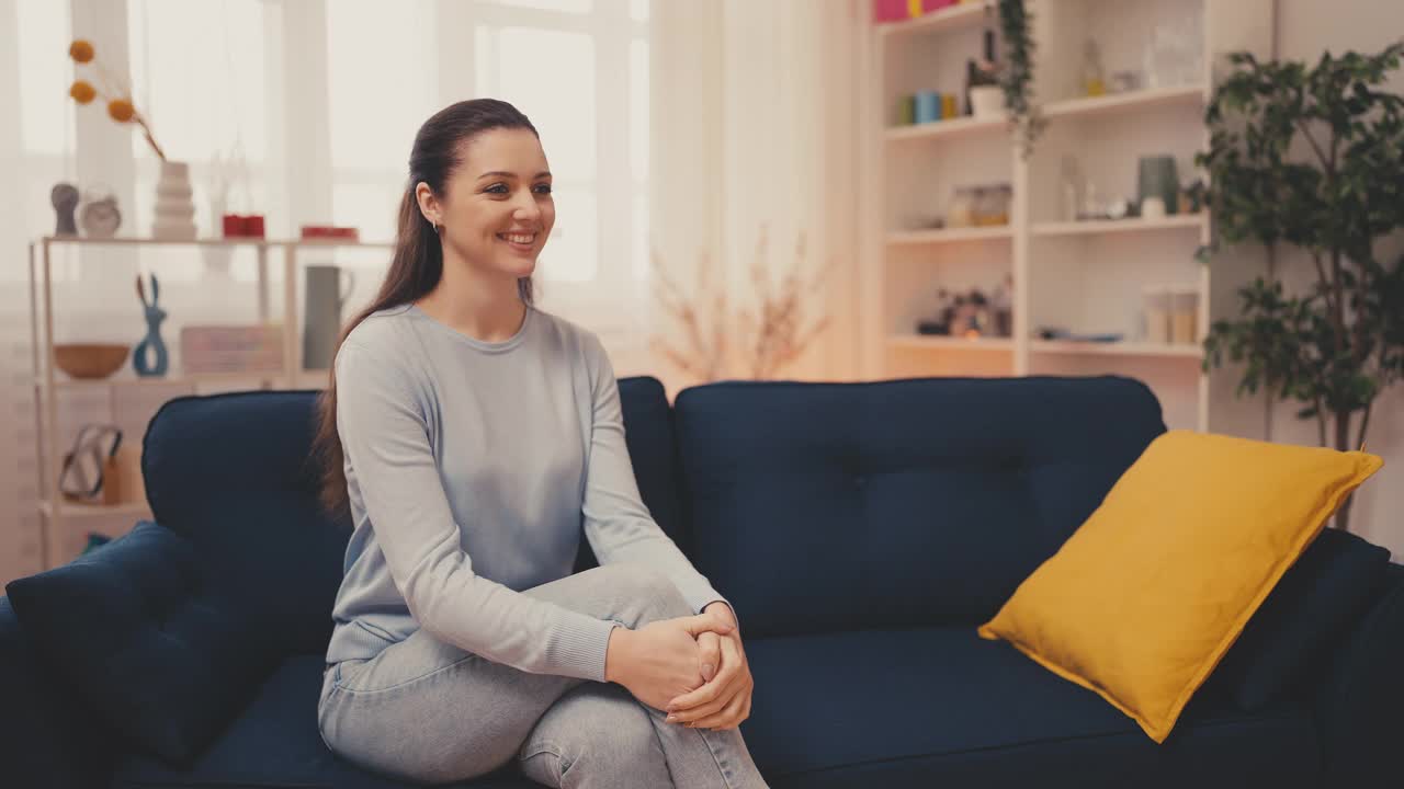
[[[1004, 119], [958, 118], [896, 125], [903, 95], [959, 93], [965, 63], [981, 52], [993, 3], [967, 1], [900, 22], [872, 25], [866, 42], [868, 105], [862, 135], [862, 314], [866, 378], [921, 375], [1102, 375], [1144, 380], [1170, 427], [1214, 430], [1210, 375], [1199, 343], [1146, 340], [1141, 310], [1148, 285], [1189, 288], [1198, 298], [1196, 337], [1236, 309], [1234, 289], [1248, 272], [1203, 265], [1195, 251], [1210, 241], [1209, 215], [1070, 222], [1061, 206], [1064, 157], [1075, 157], [1104, 197], [1136, 197], [1141, 156], [1174, 156], [1181, 181], [1207, 145], [1203, 111], [1214, 59], [1271, 45], [1271, 0], [1026, 0], [1035, 44], [1033, 91], [1047, 128], [1024, 159]], [[1104, 73], [1140, 70], [1157, 25], [1199, 20], [1203, 55], [1177, 81], [1087, 97], [1084, 46], [1095, 41]], [[1144, 79], [1144, 74], [1143, 74]], [[925, 229], [945, 213], [956, 187], [1008, 183], [1009, 225]], [[925, 337], [935, 292], [980, 288], [1012, 278], [1011, 337]], [[1119, 343], [1043, 340], [1040, 327], [1075, 334], [1122, 334]]]

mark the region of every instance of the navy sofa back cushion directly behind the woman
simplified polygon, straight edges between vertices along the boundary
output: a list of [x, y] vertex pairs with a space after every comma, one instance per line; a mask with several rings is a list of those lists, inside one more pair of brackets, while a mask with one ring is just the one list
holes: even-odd
[[[680, 545], [677, 455], [663, 386], [619, 380], [640, 494]], [[286, 653], [322, 653], [350, 522], [317, 503], [310, 460], [317, 392], [240, 392], [166, 403], [146, 430], [142, 472], [154, 519], [195, 543], [204, 583], [236, 591]], [[581, 538], [578, 569], [595, 564]]]

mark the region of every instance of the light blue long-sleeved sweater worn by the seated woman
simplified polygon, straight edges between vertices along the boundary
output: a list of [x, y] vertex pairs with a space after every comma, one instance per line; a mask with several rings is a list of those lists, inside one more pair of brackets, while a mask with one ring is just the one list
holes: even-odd
[[594, 333], [528, 307], [484, 343], [406, 305], [351, 331], [336, 376], [355, 531], [327, 663], [424, 628], [521, 671], [604, 681], [618, 625], [521, 594], [571, 573], [581, 526], [601, 564], [654, 567], [694, 611], [726, 601], [639, 497]]

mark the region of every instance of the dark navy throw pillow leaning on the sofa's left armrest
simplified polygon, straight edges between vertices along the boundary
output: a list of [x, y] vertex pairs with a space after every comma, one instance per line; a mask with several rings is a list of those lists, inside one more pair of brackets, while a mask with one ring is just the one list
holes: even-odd
[[88, 710], [171, 761], [199, 752], [277, 663], [258, 623], [202, 587], [190, 543], [152, 522], [7, 591]]

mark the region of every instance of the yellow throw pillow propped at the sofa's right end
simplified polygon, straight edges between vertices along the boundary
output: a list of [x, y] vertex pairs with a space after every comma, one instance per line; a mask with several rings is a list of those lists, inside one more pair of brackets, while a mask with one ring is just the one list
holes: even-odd
[[1383, 460], [1191, 431], [1160, 435], [980, 628], [1164, 743], [1327, 518]]

